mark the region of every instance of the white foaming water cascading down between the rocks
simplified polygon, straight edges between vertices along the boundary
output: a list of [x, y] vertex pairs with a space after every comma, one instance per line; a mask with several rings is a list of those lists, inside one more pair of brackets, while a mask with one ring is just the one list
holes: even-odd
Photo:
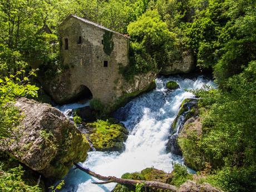
[[[165, 85], [170, 80], [177, 81], [180, 88], [174, 91], [167, 90]], [[152, 166], [170, 172], [173, 170], [173, 163], [183, 164], [181, 156], [166, 153], [170, 127], [181, 102], [193, 97], [193, 94], [186, 92], [185, 89], [201, 88], [205, 84], [213, 85], [213, 81], [203, 76], [194, 80], [180, 76], [157, 78], [155, 90], [137, 97], [115, 112], [115, 117], [130, 131], [125, 142], [125, 151], [121, 154], [88, 152], [87, 160], [82, 166], [101, 175], [120, 177], [124, 173], [141, 171]], [[115, 184], [91, 184], [93, 181], [98, 180], [80, 170], [71, 170], [65, 177], [65, 186], [61, 191], [111, 191], [115, 186]]]

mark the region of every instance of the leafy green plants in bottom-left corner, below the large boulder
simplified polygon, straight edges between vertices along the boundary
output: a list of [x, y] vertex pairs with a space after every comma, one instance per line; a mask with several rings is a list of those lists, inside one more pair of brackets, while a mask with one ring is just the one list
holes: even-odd
[[26, 192], [41, 192], [41, 188], [38, 185], [30, 186], [22, 179], [24, 171], [22, 166], [17, 168], [9, 169], [4, 171], [0, 166], [0, 190], [3, 192], [16, 192], [16, 191], [26, 191]]

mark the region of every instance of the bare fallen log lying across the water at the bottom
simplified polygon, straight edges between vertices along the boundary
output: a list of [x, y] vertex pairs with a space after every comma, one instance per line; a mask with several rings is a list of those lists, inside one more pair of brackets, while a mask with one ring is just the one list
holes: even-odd
[[166, 183], [161, 183], [157, 181], [146, 181], [146, 180], [132, 180], [132, 179], [121, 179], [116, 178], [115, 176], [102, 176], [99, 174], [94, 173], [93, 171], [90, 171], [89, 169], [83, 168], [82, 166], [74, 163], [77, 169], [80, 169], [81, 171], [102, 180], [101, 182], [93, 182], [93, 184], [107, 184], [107, 183], [119, 183], [119, 184], [126, 184], [126, 185], [136, 185], [138, 184], [144, 184], [144, 186], [147, 186], [149, 188], [157, 188], [157, 189], [165, 189], [165, 190], [171, 190], [176, 191], [177, 188], [174, 185], [169, 185]]

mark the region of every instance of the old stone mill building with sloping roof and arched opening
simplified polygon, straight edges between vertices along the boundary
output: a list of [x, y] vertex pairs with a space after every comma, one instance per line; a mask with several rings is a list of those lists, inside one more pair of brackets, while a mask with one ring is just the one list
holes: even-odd
[[121, 78], [119, 65], [128, 64], [129, 37], [73, 14], [61, 23], [59, 33], [62, 65], [72, 70], [70, 92], [111, 102]]

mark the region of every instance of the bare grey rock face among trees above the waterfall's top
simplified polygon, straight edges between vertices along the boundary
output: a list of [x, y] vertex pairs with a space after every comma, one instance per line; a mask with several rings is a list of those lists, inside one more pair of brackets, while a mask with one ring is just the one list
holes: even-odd
[[177, 73], [189, 73], [195, 67], [194, 57], [189, 51], [182, 53], [182, 58], [179, 61], [174, 61], [169, 65], [164, 66], [160, 74], [161, 75], [171, 75]]

